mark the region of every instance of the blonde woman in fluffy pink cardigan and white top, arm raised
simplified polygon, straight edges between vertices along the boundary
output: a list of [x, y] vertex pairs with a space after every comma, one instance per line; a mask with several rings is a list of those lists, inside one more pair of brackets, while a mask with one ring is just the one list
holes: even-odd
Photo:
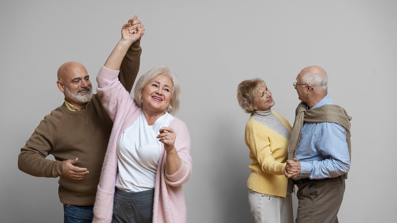
[[94, 221], [185, 223], [182, 185], [192, 171], [189, 131], [173, 117], [179, 84], [168, 67], [142, 75], [135, 98], [118, 80], [129, 46], [141, 33], [124, 25], [122, 37], [96, 77], [98, 94], [113, 120], [96, 200]]

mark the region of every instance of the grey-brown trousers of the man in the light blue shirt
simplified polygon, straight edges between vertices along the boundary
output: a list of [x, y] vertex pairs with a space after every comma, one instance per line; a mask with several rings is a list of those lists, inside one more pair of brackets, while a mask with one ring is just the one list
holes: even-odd
[[298, 210], [295, 223], [338, 223], [345, 193], [342, 176], [297, 183]]

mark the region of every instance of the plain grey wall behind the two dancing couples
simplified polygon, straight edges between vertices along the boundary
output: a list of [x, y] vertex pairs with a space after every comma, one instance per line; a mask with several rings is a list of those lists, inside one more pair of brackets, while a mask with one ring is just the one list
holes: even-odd
[[[237, 84], [260, 77], [273, 110], [293, 123], [292, 87], [308, 65], [329, 75], [329, 93], [351, 121], [352, 165], [340, 222], [397, 222], [395, 85], [397, 2], [389, 1], [2, 1], [1, 222], [62, 222], [58, 179], [17, 168], [20, 148], [63, 103], [56, 71], [67, 61], [95, 77], [138, 15], [142, 75], [168, 65], [179, 77], [193, 174], [183, 188], [189, 223], [253, 222], [249, 150]], [[294, 195], [294, 209], [296, 198]]]

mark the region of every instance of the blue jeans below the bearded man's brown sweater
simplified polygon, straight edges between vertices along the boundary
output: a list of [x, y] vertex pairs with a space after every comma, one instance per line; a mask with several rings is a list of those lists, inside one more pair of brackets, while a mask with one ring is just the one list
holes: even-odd
[[64, 204], [64, 223], [91, 223], [94, 212], [93, 205], [75, 206]]

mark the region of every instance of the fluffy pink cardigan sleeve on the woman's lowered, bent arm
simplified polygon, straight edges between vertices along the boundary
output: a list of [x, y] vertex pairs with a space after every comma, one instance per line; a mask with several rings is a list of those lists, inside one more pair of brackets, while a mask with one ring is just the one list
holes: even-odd
[[174, 118], [173, 122], [175, 122], [175, 126], [170, 125], [170, 127], [172, 127], [176, 133], [175, 148], [178, 151], [179, 158], [182, 160], [182, 165], [179, 170], [172, 175], [165, 173], [165, 181], [170, 186], [181, 186], [189, 180], [192, 173], [193, 160], [190, 155], [191, 142], [186, 124], [177, 118]]

